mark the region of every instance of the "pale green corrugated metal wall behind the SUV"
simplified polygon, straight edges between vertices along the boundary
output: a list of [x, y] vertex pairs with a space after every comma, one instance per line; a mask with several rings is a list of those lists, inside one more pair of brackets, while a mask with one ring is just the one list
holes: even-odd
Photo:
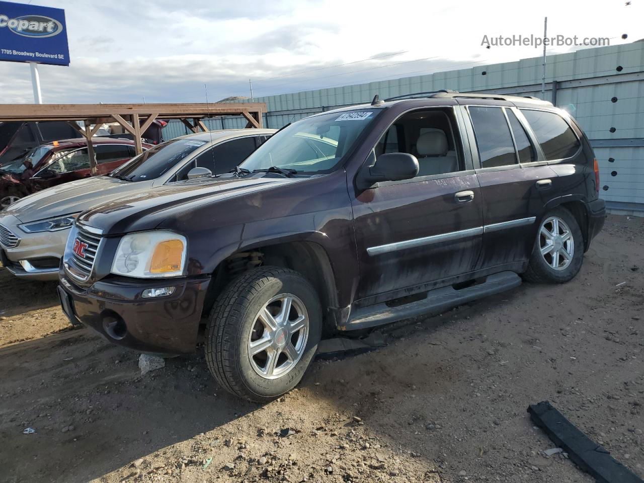
[[[542, 59], [536, 57], [254, 100], [267, 103], [264, 126], [281, 128], [314, 113], [370, 102], [376, 93], [381, 99], [439, 89], [542, 97], [541, 77]], [[601, 196], [609, 207], [644, 211], [644, 42], [551, 55], [546, 81], [545, 99], [570, 111], [591, 139], [600, 162]], [[223, 123], [225, 129], [245, 126], [242, 118]], [[207, 126], [222, 129], [222, 120], [209, 120]], [[186, 131], [171, 122], [164, 135]]]

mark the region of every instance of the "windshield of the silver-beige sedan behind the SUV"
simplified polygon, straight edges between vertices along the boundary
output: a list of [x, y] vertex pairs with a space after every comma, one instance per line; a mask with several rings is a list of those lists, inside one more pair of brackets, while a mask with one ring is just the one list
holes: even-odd
[[206, 141], [198, 139], [172, 139], [148, 149], [115, 169], [110, 176], [128, 178], [130, 181], [145, 181], [158, 178]]

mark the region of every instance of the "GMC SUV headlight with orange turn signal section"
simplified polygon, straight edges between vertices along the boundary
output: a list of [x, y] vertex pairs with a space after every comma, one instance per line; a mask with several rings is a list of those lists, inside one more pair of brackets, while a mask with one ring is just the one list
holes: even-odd
[[184, 274], [185, 236], [171, 231], [143, 231], [121, 238], [112, 273], [137, 278], [178, 277]]

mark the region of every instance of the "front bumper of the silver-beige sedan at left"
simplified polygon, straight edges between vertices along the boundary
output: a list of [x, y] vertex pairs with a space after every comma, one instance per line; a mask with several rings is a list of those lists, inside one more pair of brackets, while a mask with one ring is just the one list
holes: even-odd
[[3, 265], [19, 278], [57, 280], [58, 266], [65, 251], [69, 230], [25, 233], [15, 216], [4, 214], [0, 223], [19, 238], [15, 247], [0, 247], [4, 251]]

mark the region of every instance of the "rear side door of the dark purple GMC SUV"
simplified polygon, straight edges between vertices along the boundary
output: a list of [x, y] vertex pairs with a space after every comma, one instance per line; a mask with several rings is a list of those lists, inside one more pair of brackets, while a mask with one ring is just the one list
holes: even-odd
[[[478, 101], [480, 102], [480, 101]], [[472, 103], [463, 109], [483, 200], [483, 246], [477, 269], [520, 270], [537, 224], [553, 198], [547, 166], [516, 108]]]

